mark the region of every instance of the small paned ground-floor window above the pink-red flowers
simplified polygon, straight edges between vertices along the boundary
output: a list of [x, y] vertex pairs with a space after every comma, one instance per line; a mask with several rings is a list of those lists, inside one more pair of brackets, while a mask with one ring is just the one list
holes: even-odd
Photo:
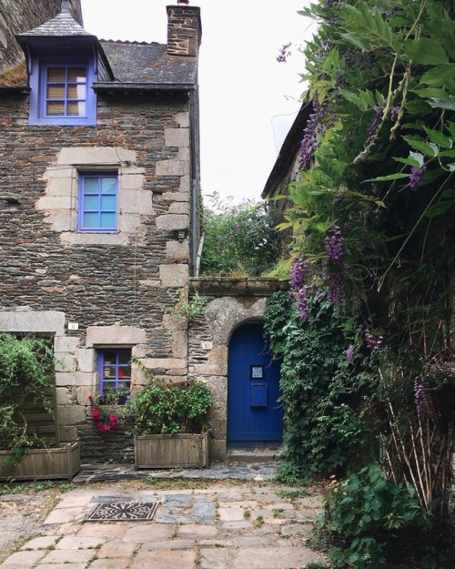
[[128, 394], [131, 388], [131, 348], [98, 350], [99, 392]]

